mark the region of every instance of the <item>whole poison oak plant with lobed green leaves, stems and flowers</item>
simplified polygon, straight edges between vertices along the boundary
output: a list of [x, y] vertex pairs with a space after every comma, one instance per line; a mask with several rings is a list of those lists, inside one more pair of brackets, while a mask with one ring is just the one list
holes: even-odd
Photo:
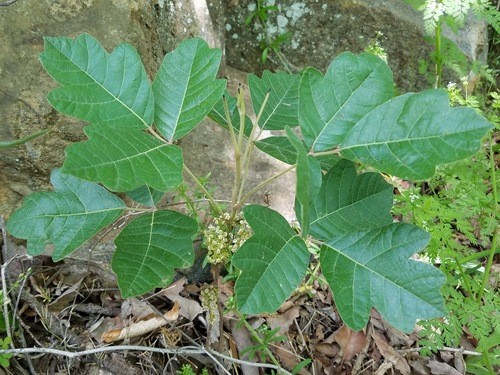
[[[427, 179], [436, 165], [474, 154], [491, 124], [470, 108], [450, 107], [444, 90], [395, 97], [390, 69], [368, 53], [341, 54], [325, 75], [311, 68], [301, 76], [250, 74], [258, 114], [251, 121], [242, 95], [230, 97], [226, 82], [216, 79], [220, 57], [201, 39], [186, 40], [166, 55], [151, 84], [128, 44], [108, 54], [90, 35], [45, 38], [41, 62], [60, 84], [48, 100], [89, 122], [88, 140], [66, 149], [51, 176], [54, 191], [29, 195], [10, 217], [10, 233], [27, 239], [32, 255], [54, 244], [53, 258], [60, 260], [129, 210], [113, 194], [124, 192], [145, 208], [115, 240], [112, 268], [121, 293], [126, 298], [168, 285], [176, 268], [193, 263], [199, 227], [155, 205], [161, 193], [181, 185], [183, 171], [198, 181], [175, 143], [208, 115], [229, 130], [235, 148], [227, 212], [198, 188], [218, 228], [225, 228], [221, 239], [239, 246], [226, 262], [239, 270], [241, 313], [274, 312], [290, 296], [308, 269], [307, 240], [320, 248], [325, 279], [352, 329], [363, 328], [372, 307], [403, 331], [418, 318], [442, 315], [443, 274], [409, 259], [429, 234], [393, 222], [393, 187], [379, 172]], [[284, 132], [256, 141], [263, 129]], [[290, 165], [275, 178], [296, 170], [299, 230], [270, 208], [246, 205], [274, 179], [247, 188], [255, 146]], [[355, 163], [378, 172], [358, 174]], [[251, 236], [233, 241], [247, 224]]]

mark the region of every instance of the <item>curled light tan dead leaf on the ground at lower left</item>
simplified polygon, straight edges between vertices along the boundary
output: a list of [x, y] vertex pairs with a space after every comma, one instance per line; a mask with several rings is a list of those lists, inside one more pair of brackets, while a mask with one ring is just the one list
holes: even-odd
[[129, 326], [121, 329], [111, 329], [104, 332], [101, 336], [101, 340], [105, 343], [110, 343], [118, 340], [123, 340], [126, 338], [132, 338], [137, 336], [142, 336], [146, 333], [154, 331], [167, 324], [167, 321], [176, 320], [179, 317], [179, 304], [176, 302], [172, 309], [167, 311], [163, 316], [153, 317], [147, 320], [140, 320], [135, 323], [131, 323]]

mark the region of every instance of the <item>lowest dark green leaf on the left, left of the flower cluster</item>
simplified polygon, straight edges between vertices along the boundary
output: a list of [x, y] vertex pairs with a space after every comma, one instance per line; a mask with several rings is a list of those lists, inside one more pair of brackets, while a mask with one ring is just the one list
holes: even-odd
[[123, 298], [168, 285], [175, 268], [193, 264], [198, 224], [177, 211], [156, 211], [131, 221], [115, 239], [111, 266]]

